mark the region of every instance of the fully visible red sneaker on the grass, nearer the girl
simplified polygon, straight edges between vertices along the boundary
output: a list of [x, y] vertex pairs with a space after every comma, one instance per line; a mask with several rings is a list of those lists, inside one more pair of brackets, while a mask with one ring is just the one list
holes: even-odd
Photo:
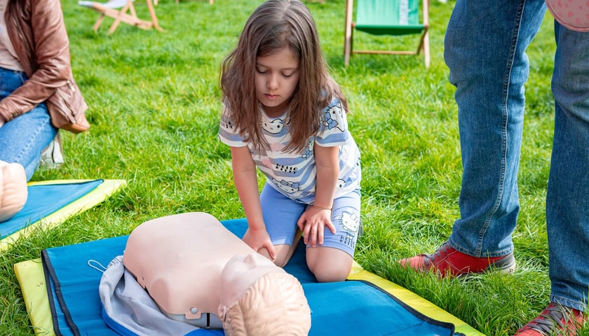
[[409, 266], [417, 271], [437, 270], [442, 277], [482, 273], [487, 269], [497, 269], [506, 274], [515, 270], [513, 253], [492, 258], [476, 258], [456, 251], [447, 242], [432, 254], [420, 254], [399, 262], [403, 267]]

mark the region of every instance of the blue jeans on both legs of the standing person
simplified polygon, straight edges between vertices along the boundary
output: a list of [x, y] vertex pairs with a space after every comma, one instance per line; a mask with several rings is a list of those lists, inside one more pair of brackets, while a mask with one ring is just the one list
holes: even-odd
[[[543, 0], [457, 0], [445, 36], [456, 86], [463, 176], [449, 244], [475, 257], [513, 252], [524, 119], [525, 50]], [[550, 300], [585, 310], [589, 288], [589, 33], [555, 22], [555, 130], [546, 221]]]

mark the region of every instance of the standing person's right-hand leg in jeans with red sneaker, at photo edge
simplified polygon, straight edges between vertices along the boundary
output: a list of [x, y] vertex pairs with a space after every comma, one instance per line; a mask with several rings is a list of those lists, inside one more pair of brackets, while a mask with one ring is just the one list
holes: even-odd
[[[589, 33], [555, 22], [555, 127], [546, 195], [550, 304], [518, 336], [577, 335], [589, 288]], [[557, 331], [558, 330], [558, 331]]]

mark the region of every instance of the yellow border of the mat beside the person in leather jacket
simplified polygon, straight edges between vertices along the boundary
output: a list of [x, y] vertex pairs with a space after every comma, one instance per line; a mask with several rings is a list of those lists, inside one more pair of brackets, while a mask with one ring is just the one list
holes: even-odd
[[[40, 186], [40, 185], [54, 185], [54, 184], [68, 184], [68, 183], [81, 183], [94, 180], [51, 180], [51, 181], [39, 181], [31, 182], [29, 186]], [[0, 240], [0, 252], [6, 251], [6, 249], [14, 244], [21, 236], [27, 237], [36, 228], [54, 228], [55, 226], [65, 222], [67, 218], [70, 218], [76, 214], [86, 211], [92, 207], [95, 207], [100, 202], [104, 201], [110, 195], [116, 193], [119, 189], [126, 185], [125, 180], [104, 180], [90, 193], [83, 195], [78, 200], [67, 204], [65, 207], [55, 211], [53, 214], [41, 218], [39, 221], [32, 223], [12, 235], [4, 237]]]

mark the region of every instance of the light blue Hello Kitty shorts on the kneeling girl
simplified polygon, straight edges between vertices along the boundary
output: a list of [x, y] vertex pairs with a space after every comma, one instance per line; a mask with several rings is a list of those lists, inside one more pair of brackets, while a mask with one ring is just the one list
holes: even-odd
[[[264, 216], [264, 223], [266, 223], [266, 230], [270, 235], [272, 244], [292, 245], [297, 232], [297, 221], [299, 221], [309, 204], [291, 200], [278, 193], [268, 183], [262, 189], [259, 200], [262, 204], [262, 215]], [[336, 232], [333, 234], [326, 227], [323, 233], [323, 245], [321, 246], [337, 248], [353, 256], [360, 228], [359, 188], [333, 200], [331, 220]]]

